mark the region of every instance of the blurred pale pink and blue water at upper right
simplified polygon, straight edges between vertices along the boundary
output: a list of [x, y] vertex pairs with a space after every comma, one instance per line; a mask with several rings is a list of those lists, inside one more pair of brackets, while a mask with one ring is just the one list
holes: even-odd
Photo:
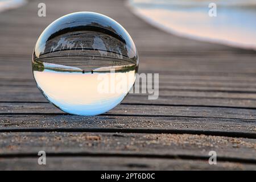
[[[209, 3], [217, 16], [210, 17]], [[172, 34], [256, 49], [255, 0], [130, 0], [135, 13]]]

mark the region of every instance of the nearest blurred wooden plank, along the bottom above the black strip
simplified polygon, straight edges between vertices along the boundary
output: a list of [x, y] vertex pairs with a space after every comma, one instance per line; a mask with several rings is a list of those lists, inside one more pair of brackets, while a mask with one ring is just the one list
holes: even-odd
[[217, 162], [207, 160], [147, 159], [127, 157], [47, 157], [46, 165], [38, 165], [35, 158], [0, 158], [1, 170], [254, 170], [253, 164]]

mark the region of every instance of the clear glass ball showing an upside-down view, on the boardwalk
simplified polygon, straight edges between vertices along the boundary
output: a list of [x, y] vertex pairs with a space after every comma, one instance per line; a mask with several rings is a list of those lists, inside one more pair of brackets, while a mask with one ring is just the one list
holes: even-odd
[[68, 14], [49, 24], [32, 56], [38, 88], [69, 114], [113, 109], [132, 88], [137, 71], [137, 50], [125, 28], [92, 12]]

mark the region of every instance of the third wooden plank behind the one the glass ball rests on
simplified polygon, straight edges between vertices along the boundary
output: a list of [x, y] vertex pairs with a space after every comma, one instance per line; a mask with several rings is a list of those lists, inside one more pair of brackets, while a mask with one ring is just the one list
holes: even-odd
[[[154, 75], [153, 75], [154, 76]], [[154, 79], [154, 77], [153, 77]], [[157, 80], [148, 80], [148, 84], [153, 84]], [[216, 81], [216, 80], [188, 80], [169, 77], [163, 77], [160, 75], [159, 79], [159, 90], [191, 90], [197, 92], [226, 92], [226, 93], [256, 93], [256, 80], [249, 81]], [[31, 78], [1, 78], [1, 88], [8, 88], [9, 86], [14, 87], [13, 89], [19, 89], [16, 87], [31, 87], [35, 88], [35, 81]], [[146, 85], [141, 85], [141, 88], [147, 88]]]

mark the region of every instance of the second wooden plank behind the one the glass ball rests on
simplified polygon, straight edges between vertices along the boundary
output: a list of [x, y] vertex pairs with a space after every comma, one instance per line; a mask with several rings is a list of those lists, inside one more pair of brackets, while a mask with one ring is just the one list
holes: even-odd
[[[34, 91], [33, 91], [34, 90]], [[36, 92], [36, 93], [34, 93]], [[37, 88], [26, 92], [9, 92], [8, 97], [0, 92], [0, 102], [47, 102]], [[147, 95], [129, 94], [122, 103], [127, 104], [157, 104], [157, 105], [187, 105], [187, 106], [228, 106], [256, 108], [256, 100], [251, 98], [225, 98], [205, 96], [159, 96], [157, 100], [148, 100]]]

